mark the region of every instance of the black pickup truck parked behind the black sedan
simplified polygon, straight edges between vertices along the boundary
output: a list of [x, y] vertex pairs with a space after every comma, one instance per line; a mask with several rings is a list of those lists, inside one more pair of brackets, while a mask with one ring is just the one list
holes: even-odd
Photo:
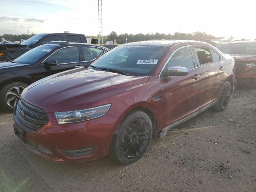
[[32, 36], [22, 44], [2, 44], [0, 45], [0, 61], [11, 61], [28, 50], [46, 44], [50, 41], [67, 41], [76, 43], [87, 43], [83, 34], [74, 33], [42, 33]]

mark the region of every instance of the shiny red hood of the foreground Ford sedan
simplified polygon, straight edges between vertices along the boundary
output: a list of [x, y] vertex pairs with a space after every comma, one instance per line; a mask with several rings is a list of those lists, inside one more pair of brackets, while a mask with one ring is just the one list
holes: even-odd
[[148, 80], [149, 76], [125, 76], [77, 68], [31, 84], [22, 92], [21, 97], [46, 112], [80, 110], [106, 104], [108, 98]]

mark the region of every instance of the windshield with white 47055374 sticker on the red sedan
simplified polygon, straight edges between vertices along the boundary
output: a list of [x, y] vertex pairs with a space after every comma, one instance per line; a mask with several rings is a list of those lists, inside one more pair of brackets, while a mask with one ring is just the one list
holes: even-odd
[[91, 64], [91, 68], [111, 69], [130, 76], [149, 76], [168, 50], [161, 46], [118, 46]]

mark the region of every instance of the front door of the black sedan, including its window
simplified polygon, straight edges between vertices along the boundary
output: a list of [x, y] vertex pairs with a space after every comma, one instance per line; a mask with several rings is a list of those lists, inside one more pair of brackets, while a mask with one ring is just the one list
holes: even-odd
[[[45, 63], [49, 60], [55, 60], [56, 66], [47, 66]], [[82, 56], [80, 56], [79, 46], [70, 46], [60, 48], [52, 53], [46, 60], [44, 60], [39, 68], [38, 72], [44, 76], [49, 76], [64, 70], [83, 66]]]

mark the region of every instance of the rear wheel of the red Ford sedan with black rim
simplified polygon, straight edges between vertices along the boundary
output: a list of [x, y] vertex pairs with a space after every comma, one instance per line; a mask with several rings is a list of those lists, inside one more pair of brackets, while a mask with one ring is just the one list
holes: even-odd
[[214, 106], [212, 106], [212, 109], [218, 112], [224, 111], [228, 106], [231, 92], [232, 92], [232, 89], [231, 89], [230, 82], [225, 81], [224, 85], [222, 86], [222, 90], [220, 92], [218, 102]]

